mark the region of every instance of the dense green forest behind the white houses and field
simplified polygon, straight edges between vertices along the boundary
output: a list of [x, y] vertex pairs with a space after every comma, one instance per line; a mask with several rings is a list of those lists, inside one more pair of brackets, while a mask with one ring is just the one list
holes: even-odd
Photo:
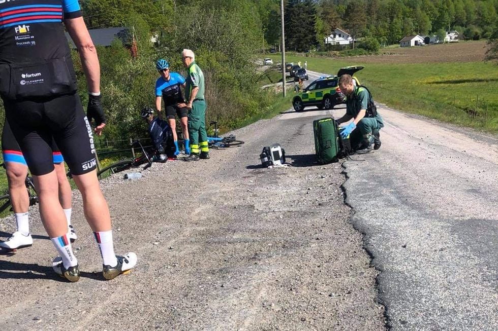
[[[263, 30], [278, 47], [278, 0], [262, 0]], [[335, 28], [379, 44], [398, 43], [407, 35], [457, 30], [465, 39], [489, 38], [496, 27], [498, 0], [286, 0], [286, 48], [323, 48]]]

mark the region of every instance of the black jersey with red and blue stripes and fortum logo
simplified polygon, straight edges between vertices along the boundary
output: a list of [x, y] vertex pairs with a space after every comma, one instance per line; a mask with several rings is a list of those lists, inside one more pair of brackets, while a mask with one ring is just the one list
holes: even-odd
[[76, 91], [62, 24], [80, 17], [77, 0], [0, 0], [0, 95], [54, 96]]

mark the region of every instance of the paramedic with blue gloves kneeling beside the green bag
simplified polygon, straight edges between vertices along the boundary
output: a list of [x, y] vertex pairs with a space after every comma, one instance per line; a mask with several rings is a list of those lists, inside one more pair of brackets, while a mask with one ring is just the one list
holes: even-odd
[[346, 138], [351, 134], [351, 147], [354, 150], [369, 152], [372, 143], [374, 150], [380, 149], [379, 131], [384, 127], [384, 121], [377, 112], [374, 99], [368, 90], [353, 84], [353, 78], [348, 74], [339, 78], [339, 88], [347, 97], [346, 114], [336, 121], [340, 124], [353, 119], [342, 129], [340, 135]]

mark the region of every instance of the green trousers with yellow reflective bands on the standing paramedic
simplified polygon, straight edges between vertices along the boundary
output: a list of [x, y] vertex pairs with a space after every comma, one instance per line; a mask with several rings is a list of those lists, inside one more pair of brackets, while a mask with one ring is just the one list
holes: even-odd
[[189, 117], [190, 150], [192, 154], [209, 152], [206, 132], [206, 101], [194, 100]]

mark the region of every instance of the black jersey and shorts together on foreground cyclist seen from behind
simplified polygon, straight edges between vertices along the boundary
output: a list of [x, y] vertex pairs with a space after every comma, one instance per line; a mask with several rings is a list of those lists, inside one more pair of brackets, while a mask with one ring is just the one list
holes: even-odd
[[77, 0], [0, 0], [0, 96], [34, 175], [54, 169], [52, 136], [74, 174], [96, 167], [63, 26], [80, 16]]

